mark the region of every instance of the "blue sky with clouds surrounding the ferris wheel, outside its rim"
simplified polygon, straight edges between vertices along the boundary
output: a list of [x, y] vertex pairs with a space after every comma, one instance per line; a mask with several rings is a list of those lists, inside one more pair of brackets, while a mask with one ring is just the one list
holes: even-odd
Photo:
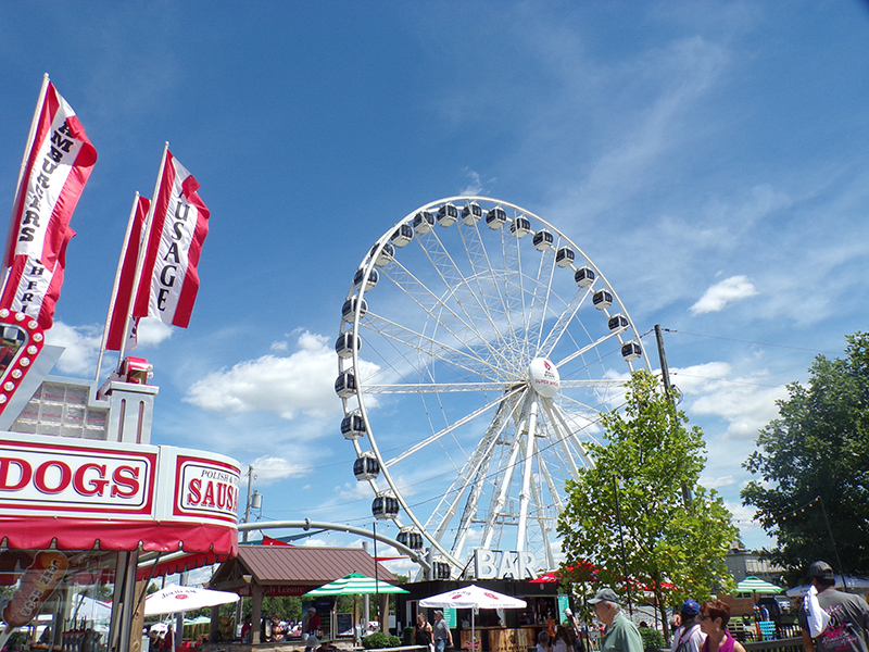
[[670, 330], [704, 482], [763, 546], [741, 464], [784, 384], [867, 326], [867, 43], [851, 0], [4, 3], [0, 198], [48, 72], [99, 152], [49, 339], [92, 377], [168, 140], [211, 231], [190, 328], [143, 329], [152, 442], [253, 463], [264, 519], [354, 525], [332, 342], [356, 267], [439, 198], [524, 206]]

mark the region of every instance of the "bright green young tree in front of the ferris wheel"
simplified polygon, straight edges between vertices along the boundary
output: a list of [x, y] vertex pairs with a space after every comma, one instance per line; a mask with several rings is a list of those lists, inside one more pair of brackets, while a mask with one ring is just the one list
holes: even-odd
[[[667, 592], [670, 605], [728, 588], [725, 557], [736, 536], [720, 496], [697, 484], [706, 462], [703, 431], [687, 428], [672, 399], [651, 374], [632, 376], [625, 411], [602, 416], [608, 443], [589, 446], [594, 467], [567, 482], [558, 518], [563, 574], [570, 577], [571, 567], [582, 573], [590, 563], [599, 568], [597, 586], [622, 595], [627, 575], [634, 597], [640, 587], [654, 592], [667, 637], [665, 584], [675, 585]], [[683, 488], [693, 492], [688, 506]], [[579, 586], [587, 593], [597, 588]]]

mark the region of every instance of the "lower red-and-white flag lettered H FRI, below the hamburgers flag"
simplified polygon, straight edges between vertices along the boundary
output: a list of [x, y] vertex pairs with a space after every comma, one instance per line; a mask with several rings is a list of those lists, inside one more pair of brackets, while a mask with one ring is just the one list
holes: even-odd
[[75, 231], [66, 228], [53, 272], [32, 255], [16, 255], [0, 297], [0, 308], [36, 318], [43, 330], [51, 328], [66, 267], [66, 246], [74, 236]]

